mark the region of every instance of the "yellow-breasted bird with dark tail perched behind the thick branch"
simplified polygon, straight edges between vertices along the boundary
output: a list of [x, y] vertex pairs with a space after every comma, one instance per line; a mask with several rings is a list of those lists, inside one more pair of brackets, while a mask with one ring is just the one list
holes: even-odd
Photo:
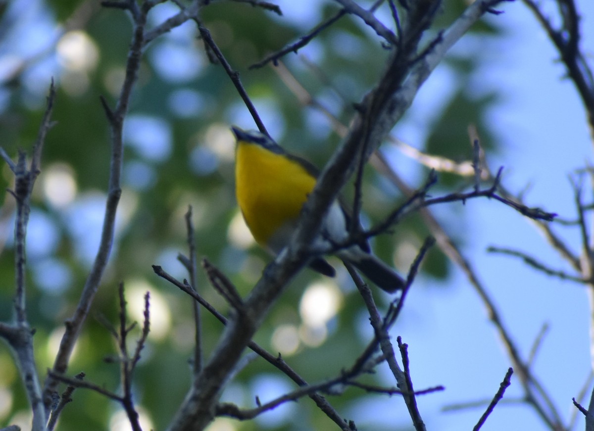
[[[309, 161], [285, 151], [272, 138], [258, 131], [232, 126], [235, 135], [235, 195], [248, 229], [258, 245], [278, 255], [290, 241], [308, 195], [314, 189], [318, 169]], [[324, 218], [317, 246], [326, 249], [349, 241], [350, 216], [338, 200]], [[334, 255], [352, 264], [375, 285], [393, 293], [406, 281], [374, 256], [366, 240], [339, 248]], [[322, 256], [309, 267], [328, 277], [336, 271]]]

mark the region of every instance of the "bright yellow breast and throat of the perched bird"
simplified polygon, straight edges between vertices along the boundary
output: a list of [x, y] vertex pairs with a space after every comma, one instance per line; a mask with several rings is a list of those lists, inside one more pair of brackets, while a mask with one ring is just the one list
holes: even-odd
[[274, 234], [299, 217], [315, 178], [295, 160], [257, 144], [239, 142], [235, 157], [239, 208], [256, 242], [270, 248]]

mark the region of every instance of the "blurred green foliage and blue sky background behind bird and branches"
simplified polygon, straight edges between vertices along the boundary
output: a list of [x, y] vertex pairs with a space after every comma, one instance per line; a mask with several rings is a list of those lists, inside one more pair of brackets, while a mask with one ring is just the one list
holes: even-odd
[[[371, 2], [360, 1], [369, 7]], [[283, 15], [236, 2], [213, 2], [203, 9], [211, 31], [242, 81], [270, 134], [293, 153], [323, 167], [340, 142], [320, 110], [305, 107], [287, 87], [295, 78], [312, 97], [347, 124], [353, 103], [377, 81], [388, 56], [381, 40], [355, 17], [344, 17], [314, 41], [282, 59], [285, 69], [249, 66], [310, 31], [338, 11], [331, 1], [279, 2]], [[582, 47], [592, 55], [594, 4], [580, 0]], [[465, 2], [445, 0], [429, 37], [450, 24]], [[545, 11], [555, 14], [552, 2]], [[421, 151], [455, 161], [472, 158], [467, 126], [481, 135], [492, 170], [504, 166], [503, 184], [522, 193], [530, 206], [574, 220], [568, 176], [592, 163], [582, 104], [546, 34], [520, 2], [501, 5], [472, 27], [431, 75], [393, 136]], [[150, 26], [176, 14], [175, 4], [154, 8]], [[376, 13], [392, 23], [384, 4]], [[27, 300], [36, 328], [42, 375], [52, 365], [63, 322], [74, 310], [99, 242], [109, 169], [109, 131], [100, 96], [115, 103], [124, 77], [131, 20], [118, 9], [90, 0], [0, 1], [0, 145], [15, 157], [30, 151], [45, 109], [50, 80], [58, 87], [46, 140], [42, 173], [34, 189], [28, 230]], [[591, 59], [591, 57], [590, 57]], [[135, 399], [146, 430], [164, 429], [191, 381], [188, 364], [194, 342], [191, 300], [153, 274], [151, 264], [187, 277], [176, 260], [187, 253], [184, 214], [192, 205], [198, 256], [217, 265], [242, 294], [260, 278], [270, 258], [258, 249], [236, 207], [234, 142], [230, 125], [255, 128], [228, 76], [210, 64], [194, 23], [155, 40], [143, 58], [125, 122], [124, 190], [116, 243], [102, 287], [72, 356], [69, 374], [84, 371], [89, 381], [116, 391], [118, 367], [103, 361], [115, 353], [98, 315], [115, 322], [117, 286], [124, 281], [131, 319], [142, 320], [143, 294], [151, 293], [151, 333], [135, 375]], [[411, 187], [428, 170], [394, 144], [381, 147], [394, 170]], [[0, 186], [12, 185], [2, 167]], [[575, 176], [577, 178], [577, 176]], [[458, 191], [472, 178], [440, 175], [432, 195]], [[584, 183], [587, 194], [589, 185]], [[352, 196], [352, 186], [345, 188]], [[364, 223], [372, 226], [403, 202], [402, 193], [371, 167], [364, 183]], [[587, 199], [586, 199], [587, 200]], [[12, 315], [14, 199], [5, 193], [0, 208], [0, 319]], [[564, 423], [576, 413], [572, 397], [590, 390], [589, 312], [583, 286], [535, 272], [517, 259], [493, 255], [489, 245], [520, 249], [553, 268], [570, 271], [532, 224], [519, 213], [488, 199], [432, 207], [488, 287], [521, 353], [527, 357], [544, 324], [544, 341], [533, 362]], [[576, 253], [576, 227], [558, 226]], [[417, 215], [373, 240], [378, 256], [405, 273], [428, 235]], [[337, 268], [339, 261], [334, 260]], [[225, 301], [200, 273], [198, 290], [217, 309]], [[387, 306], [390, 297], [374, 290]], [[221, 332], [204, 315], [206, 354]], [[511, 365], [475, 291], [459, 268], [432, 249], [393, 328], [409, 344], [416, 389], [444, 385], [445, 391], [418, 398], [428, 429], [471, 429], [485, 405], [444, 410], [490, 400]], [[349, 367], [372, 337], [363, 303], [344, 268], [336, 279], [305, 270], [271, 310], [256, 341], [283, 358], [308, 382], [336, 376]], [[368, 382], [394, 386], [387, 368]], [[239, 373], [223, 400], [254, 407], [293, 389], [292, 382], [261, 359]], [[164, 395], [166, 394], [166, 395]], [[483, 430], [547, 429], [522, 403], [515, 378], [504, 402]], [[129, 427], [119, 405], [78, 389], [58, 429]], [[365, 394], [350, 388], [328, 397], [341, 416], [361, 430], [412, 429], [400, 397]], [[587, 401], [584, 401], [587, 405]], [[0, 426], [30, 426], [18, 372], [0, 345]], [[308, 399], [283, 405], [251, 422], [217, 419], [210, 431], [325, 430], [330, 422]], [[580, 429], [579, 419], [573, 429]]]

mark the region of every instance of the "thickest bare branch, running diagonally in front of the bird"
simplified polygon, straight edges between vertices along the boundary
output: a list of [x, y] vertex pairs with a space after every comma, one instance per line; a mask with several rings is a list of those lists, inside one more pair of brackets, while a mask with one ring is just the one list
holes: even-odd
[[[248, 346], [255, 331], [266, 318], [274, 300], [296, 273], [305, 266], [310, 256], [309, 247], [313, 239], [318, 236], [324, 215], [331, 203], [336, 200], [339, 189], [355, 169], [356, 160], [352, 156], [356, 153], [360, 142], [369, 140], [368, 151], [370, 152], [377, 148], [394, 123], [410, 106], [419, 86], [441, 61], [447, 49], [462, 37], [465, 31], [481, 17], [486, 8], [496, 4], [498, 1], [492, 0], [473, 2], [443, 34], [440, 43], [415, 63], [410, 74], [406, 65], [416, 53], [422, 31], [418, 31], [415, 37], [407, 40], [406, 50], [393, 53], [379, 84], [366, 94], [360, 104], [361, 110], [356, 113], [345, 142], [334, 153], [318, 178], [308, 202], [304, 205], [302, 217], [299, 219], [289, 246], [272, 264], [268, 265], [263, 277], [245, 299], [246, 312], [237, 313], [229, 319], [219, 344], [174, 417], [170, 431], [200, 429], [211, 421], [211, 412], [219, 397], [221, 385], [226, 381], [244, 348]], [[428, 22], [425, 24], [428, 25]], [[387, 358], [390, 367], [396, 364], [393, 353], [391, 356], [392, 358]], [[208, 373], [204, 370], [208, 370]]]

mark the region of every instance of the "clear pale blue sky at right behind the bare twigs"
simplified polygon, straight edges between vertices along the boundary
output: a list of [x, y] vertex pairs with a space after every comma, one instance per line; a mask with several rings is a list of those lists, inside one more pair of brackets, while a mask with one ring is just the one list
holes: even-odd
[[[594, 3], [581, 1], [578, 6], [584, 33], [582, 47], [591, 59]], [[497, 42], [498, 46], [487, 45], [492, 50], [492, 61], [481, 74], [481, 82], [475, 84], [477, 91], [504, 89], [503, 102], [489, 115], [503, 150], [489, 157], [489, 166], [493, 170], [505, 167], [503, 183], [512, 191], [530, 185], [525, 195], [527, 204], [574, 219], [568, 175], [592, 163], [592, 142], [582, 104], [570, 81], [563, 79], [563, 66], [555, 62], [557, 53], [524, 5], [514, 2], [502, 9], [505, 14], [491, 19], [503, 23], [510, 34]], [[439, 81], [430, 81], [418, 100], [440, 85]], [[585, 190], [585, 200], [589, 201], [587, 181]], [[486, 253], [489, 245], [506, 246], [538, 257], [552, 268], [568, 269], [533, 224], [515, 211], [497, 202], [475, 201], [467, 202], [464, 212], [460, 221], [455, 211], [445, 210], [445, 226], [453, 234], [469, 230], [463, 254], [493, 297], [523, 357], [529, 354], [542, 325], [549, 325], [533, 372], [567, 423], [573, 410], [571, 398], [577, 397], [590, 372], [586, 290], [546, 277], [517, 259]], [[575, 229], [559, 227], [557, 232], [564, 233], [573, 250], [579, 250]], [[443, 431], [471, 429], [482, 414], [482, 408], [443, 413], [444, 405], [491, 398], [511, 366], [465, 276], [456, 270], [447, 283], [450, 290], [435, 286], [435, 280], [419, 280], [408, 299], [406, 318], [393, 331], [410, 344], [416, 386], [443, 384], [447, 389], [419, 400], [428, 429]], [[513, 400], [520, 395], [520, 384], [513, 378], [505, 398]], [[400, 414], [406, 413], [401, 410]], [[406, 420], [402, 419], [402, 423], [406, 424]], [[546, 429], [532, 410], [519, 404], [500, 405], [482, 429], [503, 427]], [[582, 428], [580, 418], [576, 429]]]

